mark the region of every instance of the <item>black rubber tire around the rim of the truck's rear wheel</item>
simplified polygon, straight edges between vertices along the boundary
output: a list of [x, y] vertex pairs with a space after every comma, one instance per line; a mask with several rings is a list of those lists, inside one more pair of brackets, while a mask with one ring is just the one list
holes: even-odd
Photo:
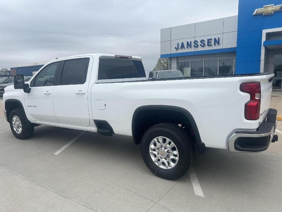
[[[162, 169], [151, 159], [150, 143], [159, 136], [169, 138], [177, 147], [179, 160], [171, 169]], [[141, 141], [141, 153], [145, 164], [152, 173], [167, 180], [184, 176], [193, 167], [195, 161], [195, 147], [191, 136], [183, 128], [173, 123], [160, 123], [149, 128]]]

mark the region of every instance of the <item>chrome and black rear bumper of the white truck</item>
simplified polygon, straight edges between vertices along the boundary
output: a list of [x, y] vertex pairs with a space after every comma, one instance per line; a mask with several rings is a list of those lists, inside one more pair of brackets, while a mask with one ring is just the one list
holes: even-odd
[[277, 123], [277, 110], [269, 109], [266, 119], [254, 132], [235, 132], [228, 141], [230, 152], [262, 152], [266, 150], [270, 142], [278, 141], [274, 135]]

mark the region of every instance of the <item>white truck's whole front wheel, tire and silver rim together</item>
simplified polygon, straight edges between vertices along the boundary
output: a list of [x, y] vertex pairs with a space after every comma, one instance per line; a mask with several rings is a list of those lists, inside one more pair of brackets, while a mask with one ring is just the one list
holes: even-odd
[[12, 133], [16, 138], [27, 139], [33, 135], [34, 126], [28, 123], [21, 108], [16, 108], [11, 111], [9, 123]]

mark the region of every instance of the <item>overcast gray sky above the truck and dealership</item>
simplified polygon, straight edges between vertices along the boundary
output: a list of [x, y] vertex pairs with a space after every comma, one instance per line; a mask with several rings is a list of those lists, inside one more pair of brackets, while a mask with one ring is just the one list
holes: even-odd
[[151, 71], [160, 29], [237, 15], [238, 0], [0, 0], [0, 68], [86, 53], [141, 56]]

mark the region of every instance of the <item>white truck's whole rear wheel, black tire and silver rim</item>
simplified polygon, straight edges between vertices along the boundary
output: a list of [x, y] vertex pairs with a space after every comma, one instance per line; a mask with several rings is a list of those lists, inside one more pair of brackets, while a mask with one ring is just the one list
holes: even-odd
[[149, 128], [141, 141], [141, 153], [152, 173], [168, 180], [182, 177], [195, 161], [191, 136], [173, 123]]

